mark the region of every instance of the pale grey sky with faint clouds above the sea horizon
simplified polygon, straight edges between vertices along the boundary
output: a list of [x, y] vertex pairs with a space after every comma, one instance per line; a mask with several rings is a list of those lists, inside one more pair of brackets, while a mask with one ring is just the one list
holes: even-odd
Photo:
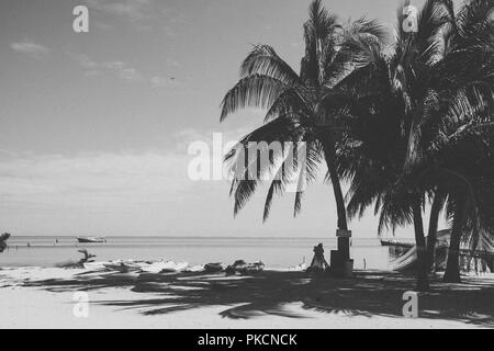
[[[257, 110], [218, 121], [252, 45], [273, 46], [299, 70], [308, 3], [1, 1], [0, 231], [333, 237], [329, 184], [310, 186], [296, 218], [292, 194], [274, 199], [262, 224], [266, 192], [234, 218], [226, 180], [188, 177], [191, 143], [211, 145], [213, 133], [235, 140], [262, 122]], [[80, 4], [89, 33], [72, 30]], [[378, 18], [391, 32], [398, 2], [324, 4], [344, 20]], [[350, 228], [377, 237], [371, 211]]]

